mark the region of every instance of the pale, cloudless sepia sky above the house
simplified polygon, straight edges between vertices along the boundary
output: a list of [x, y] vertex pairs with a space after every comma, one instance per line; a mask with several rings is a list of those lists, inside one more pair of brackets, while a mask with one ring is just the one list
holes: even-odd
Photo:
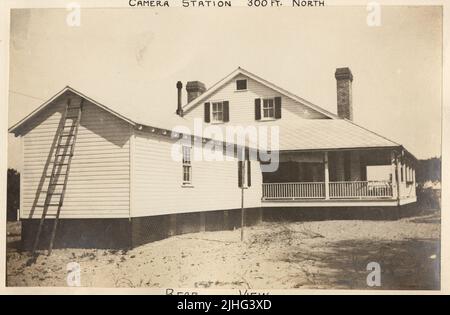
[[[178, 80], [210, 87], [238, 66], [335, 113], [334, 71], [350, 67], [356, 123], [417, 158], [441, 154], [440, 7], [385, 6], [380, 26], [368, 26], [365, 6], [82, 8], [78, 27], [67, 14], [12, 11], [10, 126], [66, 85], [171, 114]], [[21, 169], [20, 148], [10, 135], [8, 167]]]

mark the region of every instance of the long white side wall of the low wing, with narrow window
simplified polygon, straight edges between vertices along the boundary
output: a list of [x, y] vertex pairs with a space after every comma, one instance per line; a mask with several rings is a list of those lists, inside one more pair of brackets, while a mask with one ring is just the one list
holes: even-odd
[[[174, 140], [135, 131], [132, 148], [132, 217], [240, 208], [237, 161], [192, 161], [192, 187], [182, 186], [182, 162], [171, 157]], [[262, 176], [252, 161], [245, 207], [260, 207]]]

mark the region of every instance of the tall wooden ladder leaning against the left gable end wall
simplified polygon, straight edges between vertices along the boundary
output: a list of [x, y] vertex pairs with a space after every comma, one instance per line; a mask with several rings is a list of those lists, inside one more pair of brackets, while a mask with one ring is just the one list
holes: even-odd
[[[42, 216], [39, 221], [36, 238], [33, 244], [32, 255], [34, 255], [39, 245], [39, 239], [42, 233], [45, 219], [47, 217], [54, 218], [52, 233], [50, 236], [50, 244], [48, 247], [48, 255], [52, 253], [53, 241], [56, 235], [59, 215], [63, 206], [64, 194], [67, 187], [67, 179], [69, 178], [70, 164], [75, 149], [77, 140], [78, 127], [80, 125], [81, 112], [83, 109], [83, 100], [81, 99], [77, 104], [71, 104], [69, 99], [66, 109], [61, 118], [61, 123], [56, 131], [58, 140], [54, 147], [54, 159], [52, 172], [46, 191], [45, 202], [43, 205], [38, 205], [42, 208]], [[60, 188], [60, 190], [58, 190]], [[56, 200], [54, 200], [56, 197]], [[57, 207], [56, 213], [48, 214], [49, 207]]]

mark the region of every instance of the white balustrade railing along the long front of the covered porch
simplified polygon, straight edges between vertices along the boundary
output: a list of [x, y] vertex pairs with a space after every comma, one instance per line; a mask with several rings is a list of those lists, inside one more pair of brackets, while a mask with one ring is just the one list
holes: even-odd
[[388, 181], [264, 183], [263, 200], [391, 198]]

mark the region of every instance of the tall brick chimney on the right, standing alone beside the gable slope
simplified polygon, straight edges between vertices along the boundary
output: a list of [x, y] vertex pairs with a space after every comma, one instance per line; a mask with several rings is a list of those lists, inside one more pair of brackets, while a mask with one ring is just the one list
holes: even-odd
[[349, 68], [337, 68], [334, 73], [337, 86], [338, 116], [353, 120], [352, 82], [353, 75]]

